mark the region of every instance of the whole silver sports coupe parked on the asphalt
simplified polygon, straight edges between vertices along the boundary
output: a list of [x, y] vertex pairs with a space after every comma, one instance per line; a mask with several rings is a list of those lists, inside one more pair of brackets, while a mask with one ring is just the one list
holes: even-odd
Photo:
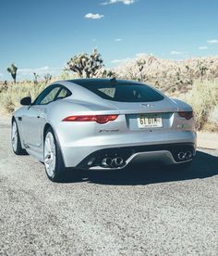
[[122, 169], [131, 161], [184, 166], [196, 154], [192, 108], [153, 87], [115, 79], [58, 81], [12, 117], [16, 154], [42, 161], [60, 181], [75, 169]]

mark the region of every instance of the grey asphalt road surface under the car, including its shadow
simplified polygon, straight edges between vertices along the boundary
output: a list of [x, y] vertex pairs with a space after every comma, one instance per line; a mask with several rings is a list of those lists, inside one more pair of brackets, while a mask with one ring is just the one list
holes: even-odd
[[54, 184], [0, 121], [0, 255], [218, 255], [218, 151]]

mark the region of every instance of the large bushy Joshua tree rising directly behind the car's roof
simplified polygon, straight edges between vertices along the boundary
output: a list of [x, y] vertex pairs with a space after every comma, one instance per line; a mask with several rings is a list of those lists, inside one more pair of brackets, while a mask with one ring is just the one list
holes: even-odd
[[91, 55], [79, 54], [70, 58], [67, 62], [67, 70], [72, 70], [79, 74], [79, 77], [94, 77], [98, 70], [103, 68], [103, 58], [98, 53], [97, 49], [94, 49]]

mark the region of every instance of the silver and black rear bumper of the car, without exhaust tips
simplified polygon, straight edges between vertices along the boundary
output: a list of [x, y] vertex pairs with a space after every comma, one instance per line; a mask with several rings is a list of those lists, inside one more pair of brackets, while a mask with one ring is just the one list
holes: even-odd
[[[191, 131], [171, 131], [160, 134], [105, 134], [62, 144], [60, 142], [66, 167], [82, 169], [103, 169], [100, 161], [105, 157], [121, 156], [125, 164], [135, 160], [158, 160], [166, 164], [180, 163], [176, 159], [178, 150], [196, 150], [196, 134]], [[185, 149], [184, 149], [185, 148]], [[94, 158], [93, 164], [88, 161]]]

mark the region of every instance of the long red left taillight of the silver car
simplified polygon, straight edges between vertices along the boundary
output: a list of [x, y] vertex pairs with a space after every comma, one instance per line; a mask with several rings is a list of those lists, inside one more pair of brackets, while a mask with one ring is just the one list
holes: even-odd
[[98, 122], [106, 123], [114, 121], [118, 115], [87, 115], [87, 116], [69, 116], [62, 121], [64, 122]]

